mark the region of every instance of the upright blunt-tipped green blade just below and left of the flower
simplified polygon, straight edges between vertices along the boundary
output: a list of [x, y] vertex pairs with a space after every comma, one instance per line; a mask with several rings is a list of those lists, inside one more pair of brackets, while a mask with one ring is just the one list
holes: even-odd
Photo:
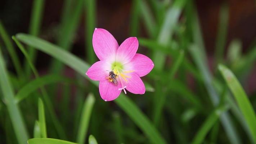
[[85, 100], [84, 107], [81, 113], [80, 124], [77, 132], [76, 142], [78, 144], [84, 144], [85, 138], [88, 130], [88, 125], [91, 117], [91, 111], [95, 103], [95, 98], [93, 94], [89, 94]]

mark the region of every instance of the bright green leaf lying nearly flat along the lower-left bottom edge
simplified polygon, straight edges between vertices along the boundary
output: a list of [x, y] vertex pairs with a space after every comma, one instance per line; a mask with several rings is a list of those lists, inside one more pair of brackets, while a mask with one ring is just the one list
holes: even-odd
[[69, 141], [51, 139], [51, 138], [34, 138], [27, 141], [28, 144], [76, 144]]

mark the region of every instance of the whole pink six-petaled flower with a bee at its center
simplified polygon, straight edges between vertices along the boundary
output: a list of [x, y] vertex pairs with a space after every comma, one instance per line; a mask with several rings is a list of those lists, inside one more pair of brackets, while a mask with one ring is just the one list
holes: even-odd
[[103, 100], [114, 100], [122, 90], [126, 94], [125, 89], [134, 94], [145, 93], [140, 77], [147, 75], [154, 63], [147, 56], [137, 54], [138, 47], [136, 37], [129, 37], [118, 46], [111, 33], [95, 28], [93, 49], [100, 61], [94, 63], [86, 75], [91, 80], [99, 81], [99, 93]]

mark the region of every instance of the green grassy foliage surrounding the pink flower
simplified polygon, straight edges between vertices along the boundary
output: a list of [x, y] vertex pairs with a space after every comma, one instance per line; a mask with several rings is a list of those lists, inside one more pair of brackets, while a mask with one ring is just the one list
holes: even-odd
[[[138, 37], [155, 67], [143, 78], [145, 95], [121, 94], [113, 103], [104, 102], [98, 82], [85, 75], [96, 61], [91, 44], [96, 1], [63, 1], [56, 44], [38, 37], [44, 3], [34, 0], [29, 34], [10, 37], [0, 22], [0, 143], [256, 144], [256, 98], [242, 87], [255, 65], [256, 45], [243, 54], [239, 39], [226, 43], [228, 4], [220, 9], [211, 72], [194, 1], [133, 0], [130, 35]], [[84, 12], [86, 57], [81, 59], [70, 51]], [[142, 26], [147, 37], [141, 35]], [[24, 67], [14, 44], [24, 55]], [[35, 67], [37, 50], [53, 58], [44, 76]], [[8, 71], [9, 65], [15, 72]], [[75, 78], [62, 74], [64, 65], [76, 72]]]

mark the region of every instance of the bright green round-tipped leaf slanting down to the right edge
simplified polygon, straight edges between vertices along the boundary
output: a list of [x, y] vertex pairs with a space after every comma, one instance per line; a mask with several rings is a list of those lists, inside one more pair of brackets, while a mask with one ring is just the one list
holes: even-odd
[[235, 100], [237, 101], [237, 104], [249, 126], [253, 136], [253, 141], [256, 143], [256, 115], [253, 111], [253, 107], [250, 101], [247, 98], [246, 93], [243, 90], [243, 87], [238, 82], [233, 72], [226, 68], [224, 65], [219, 65], [219, 71], [221, 72], [224, 80], [226, 81], [226, 84], [234, 95]]

